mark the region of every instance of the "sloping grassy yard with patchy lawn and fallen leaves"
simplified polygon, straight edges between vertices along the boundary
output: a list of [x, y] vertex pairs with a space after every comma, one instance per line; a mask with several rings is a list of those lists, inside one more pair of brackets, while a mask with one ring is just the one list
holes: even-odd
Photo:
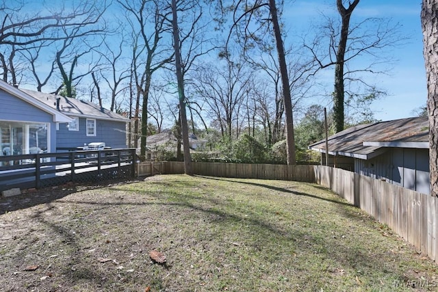
[[[153, 263], [152, 250], [166, 264]], [[0, 291], [435, 291], [437, 284], [435, 263], [308, 183], [166, 175], [0, 200]]]

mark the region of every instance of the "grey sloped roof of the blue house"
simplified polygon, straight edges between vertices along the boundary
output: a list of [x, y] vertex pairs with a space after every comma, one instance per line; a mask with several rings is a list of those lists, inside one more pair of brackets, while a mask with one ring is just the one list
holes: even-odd
[[99, 105], [95, 103], [34, 90], [20, 90], [55, 110], [57, 110], [57, 98], [60, 98], [59, 111], [67, 116], [129, 122], [129, 118], [116, 114], [114, 111], [99, 107]]

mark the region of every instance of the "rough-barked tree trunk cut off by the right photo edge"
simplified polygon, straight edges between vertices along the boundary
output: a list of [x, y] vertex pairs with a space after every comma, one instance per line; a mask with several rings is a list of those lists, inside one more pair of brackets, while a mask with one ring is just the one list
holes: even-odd
[[422, 29], [428, 89], [430, 194], [438, 196], [438, 0], [423, 0]]

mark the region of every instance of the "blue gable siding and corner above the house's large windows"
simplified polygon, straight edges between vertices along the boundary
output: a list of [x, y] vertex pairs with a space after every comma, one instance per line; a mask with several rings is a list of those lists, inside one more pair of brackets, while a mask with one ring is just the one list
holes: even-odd
[[0, 90], [0, 120], [49, 123], [50, 151], [56, 151], [56, 124], [53, 116], [20, 98]]

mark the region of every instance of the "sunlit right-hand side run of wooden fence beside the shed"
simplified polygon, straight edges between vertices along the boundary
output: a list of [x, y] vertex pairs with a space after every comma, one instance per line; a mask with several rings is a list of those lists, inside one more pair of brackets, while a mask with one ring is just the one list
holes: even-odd
[[314, 166], [316, 183], [387, 224], [422, 254], [438, 262], [438, 200], [339, 168]]

